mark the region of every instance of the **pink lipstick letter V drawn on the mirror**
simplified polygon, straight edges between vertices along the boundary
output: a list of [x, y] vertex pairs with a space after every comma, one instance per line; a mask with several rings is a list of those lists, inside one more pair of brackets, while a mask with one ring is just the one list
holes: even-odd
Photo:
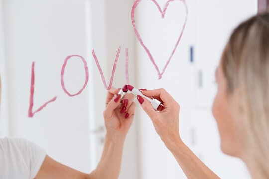
[[120, 54], [120, 52], [121, 52], [121, 47], [119, 47], [118, 52], [117, 52], [117, 54], [116, 54], [116, 58], [115, 58], [114, 65], [113, 65], [113, 69], [112, 69], [112, 74], [111, 74], [111, 77], [110, 77], [109, 86], [107, 86], [107, 83], [106, 83], [106, 80], [105, 80], [103, 71], [102, 71], [102, 69], [101, 69], [101, 67], [100, 67], [100, 64], [99, 64], [99, 62], [98, 62], [98, 59], [97, 59], [97, 57], [96, 57], [96, 55], [95, 55], [95, 53], [94, 53], [94, 50], [92, 50], [92, 54], [93, 54], [95, 63], [96, 63], [97, 68], [98, 68], [98, 70], [99, 70], [99, 72], [100, 72], [101, 78], [102, 78], [103, 83], [104, 83], [104, 87], [105, 87], [105, 89], [107, 89], [107, 90], [110, 90], [110, 89], [111, 89], [112, 82], [113, 82], [113, 78], [114, 78], [114, 74], [115, 74], [115, 70], [116, 70], [116, 66], [117, 66], [117, 61], [118, 61], [118, 59], [119, 59], [119, 54]]

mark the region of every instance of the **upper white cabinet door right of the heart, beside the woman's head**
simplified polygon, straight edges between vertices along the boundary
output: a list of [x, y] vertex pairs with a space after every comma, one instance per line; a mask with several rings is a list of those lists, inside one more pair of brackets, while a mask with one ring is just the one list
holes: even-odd
[[216, 93], [215, 70], [233, 29], [257, 12], [257, 0], [197, 1], [197, 106], [210, 108]]

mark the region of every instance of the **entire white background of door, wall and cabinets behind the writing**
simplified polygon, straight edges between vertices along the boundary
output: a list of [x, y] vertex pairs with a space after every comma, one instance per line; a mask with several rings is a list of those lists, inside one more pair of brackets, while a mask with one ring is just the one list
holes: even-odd
[[[125, 84], [125, 48], [129, 48], [130, 84], [165, 88], [180, 103], [180, 132], [184, 142], [221, 178], [249, 178], [244, 164], [220, 151], [211, 114], [216, 92], [215, 68], [231, 31], [254, 15], [256, 0], [187, 0], [189, 17], [182, 40], [161, 80], [131, 24], [133, 0], [0, 0], [0, 73], [3, 97], [0, 137], [29, 139], [57, 161], [83, 172], [96, 167], [102, 152], [104, 89], [91, 55], [95, 49], [109, 82], [119, 46], [122, 47], [113, 85]], [[157, 0], [162, 7], [166, 0]], [[137, 28], [162, 70], [179, 36], [185, 11], [171, 2], [161, 19], [150, 0], [135, 13]], [[190, 62], [190, 47], [194, 62]], [[82, 55], [89, 83], [76, 97], [60, 85], [68, 55]], [[33, 118], [27, 117], [31, 63], [35, 61], [34, 109], [54, 96]], [[201, 75], [201, 77], [199, 77]], [[200, 80], [199, 80], [200, 79]], [[85, 80], [83, 63], [72, 58], [65, 71], [66, 88], [74, 93]], [[178, 179], [184, 173], [137, 105], [128, 134], [120, 179]]]

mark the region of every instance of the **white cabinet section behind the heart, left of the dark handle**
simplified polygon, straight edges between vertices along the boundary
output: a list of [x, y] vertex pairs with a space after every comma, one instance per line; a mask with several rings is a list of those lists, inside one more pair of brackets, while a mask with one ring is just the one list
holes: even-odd
[[[163, 7], [166, 0], [157, 0]], [[195, 49], [197, 26], [197, 1], [188, 0], [188, 21], [181, 42], [168, 65], [162, 79], [158, 80], [157, 71], [147, 53], [137, 40], [137, 88], [165, 88], [184, 106], [181, 111], [182, 137], [190, 143], [189, 108], [195, 107], [196, 73], [195, 61], [191, 62], [190, 48]], [[150, 0], [142, 0], [135, 13], [137, 29], [145, 45], [152, 53], [156, 64], [162, 71], [169, 55], [174, 48], [185, 18], [185, 9], [181, 1], [172, 1], [162, 19], [157, 6]], [[195, 57], [194, 57], [195, 60]], [[168, 151], [155, 132], [151, 120], [138, 107], [139, 134], [139, 179], [178, 179], [186, 178], [173, 155]]]

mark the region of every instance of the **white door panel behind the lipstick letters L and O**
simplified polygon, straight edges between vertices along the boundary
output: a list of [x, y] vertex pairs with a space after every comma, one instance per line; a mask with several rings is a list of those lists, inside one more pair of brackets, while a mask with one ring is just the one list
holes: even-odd
[[[89, 172], [89, 93], [68, 97], [60, 85], [67, 55], [86, 57], [84, 0], [4, 0], [9, 136], [29, 139], [52, 158]], [[28, 118], [31, 64], [35, 61], [34, 110], [58, 96], [33, 118]], [[87, 59], [89, 61], [89, 59]], [[84, 83], [81, 60], [66, 66], [65, 84], [73, 93]], [[90, 83], [88, 84], [88, 86]], [[5, 96], [6, 93], [3, 93]], [[3, 103], [6, 105], [6, 103]]]

